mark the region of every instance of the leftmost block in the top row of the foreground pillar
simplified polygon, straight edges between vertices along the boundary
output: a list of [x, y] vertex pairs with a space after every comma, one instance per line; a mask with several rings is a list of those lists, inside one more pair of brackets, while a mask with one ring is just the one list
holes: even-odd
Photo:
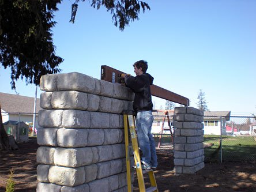
[[40, 89], [42, 91], [57, 91], [57, 74], [47, 74], [40, 78]]

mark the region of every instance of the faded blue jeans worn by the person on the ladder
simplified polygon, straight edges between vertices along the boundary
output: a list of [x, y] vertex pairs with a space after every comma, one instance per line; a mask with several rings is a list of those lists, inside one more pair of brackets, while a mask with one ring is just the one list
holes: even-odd
[[153, 120], [152, 111], [138, 112], [136, 116], [136, 130], [138, 144], [142, 151], [142, 161], [150, 164], [151, 167], [157, 167], [156, 146], [151, 134]]

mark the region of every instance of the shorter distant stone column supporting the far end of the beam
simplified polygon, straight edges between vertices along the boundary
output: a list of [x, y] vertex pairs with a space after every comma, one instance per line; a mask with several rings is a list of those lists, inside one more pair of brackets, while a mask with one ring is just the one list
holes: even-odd
[[175, 107], [175, 174], [194, 174], [205, 167], [203, 121], [204, 111], [193, 107]]

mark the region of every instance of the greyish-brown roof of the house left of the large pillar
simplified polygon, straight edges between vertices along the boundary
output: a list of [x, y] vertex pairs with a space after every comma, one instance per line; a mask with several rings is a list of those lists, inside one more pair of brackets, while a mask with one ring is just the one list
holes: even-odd
[[[7, 113], [33, 113], [34, 97], [26, 97], [21, 95], [13, 95], [9, 93], [0, 93], [1, 109]], [[40, 107], [40, 99], [36, 99], [36, 113], [42, 110]]]

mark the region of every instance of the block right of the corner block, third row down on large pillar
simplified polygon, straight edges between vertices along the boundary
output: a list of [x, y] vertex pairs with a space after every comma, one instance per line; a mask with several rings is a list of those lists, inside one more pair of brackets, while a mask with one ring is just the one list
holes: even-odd
[[110, 128], [110, 114], [104, 112], [90, 112], [91, 128]]

